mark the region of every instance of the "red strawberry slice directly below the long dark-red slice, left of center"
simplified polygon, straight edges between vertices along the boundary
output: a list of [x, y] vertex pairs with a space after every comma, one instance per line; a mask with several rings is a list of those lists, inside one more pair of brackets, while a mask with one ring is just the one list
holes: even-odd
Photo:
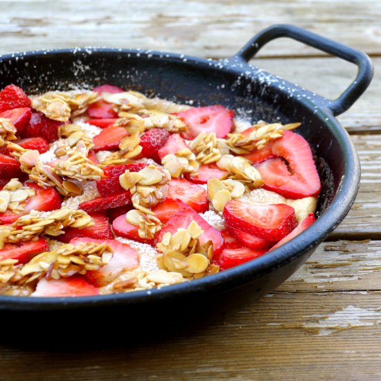
[[112, 240], [114, 235], [112, 234], [109, 218], [106, 213], [96, 212], [89, 213], [89, 215], [91, 215], [91, 218], [95, 223], [92, 227], [85, 227], [83, 229], [68, 227], [64, 229], [65, 233], [61, 236], [57, 236], [56, 239], [65, 243], [68, 243], [73, 238], [78, 237], [96, 238], [98, 240]]

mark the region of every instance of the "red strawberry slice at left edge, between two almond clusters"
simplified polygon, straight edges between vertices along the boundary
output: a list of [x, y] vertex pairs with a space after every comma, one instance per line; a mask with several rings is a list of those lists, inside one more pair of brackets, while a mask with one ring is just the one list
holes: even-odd
[[62, 200], [55, 188], [42, 188], [42, 186], [30, 181], [24, 182], [24, 186], [33, 188], [36, 194], [26, 200], [24, 211], [21, 211], [19, 214], [14, 214], [10, 211], [0, 213], [0, 224], [12, 224], [17, 218], [21, 217], [21, 215], [28, 214], [32, 209], [42, 212], [60, 209]]

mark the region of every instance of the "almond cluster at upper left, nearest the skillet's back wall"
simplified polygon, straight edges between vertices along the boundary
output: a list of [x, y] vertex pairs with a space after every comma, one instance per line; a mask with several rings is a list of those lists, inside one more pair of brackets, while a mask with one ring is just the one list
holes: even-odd
[[31, 96], [32, 107], [54, 121], [67, 122], [70, 117], [83, 114], [87, 107], [98, 100], [94, 91], [48, 91]]

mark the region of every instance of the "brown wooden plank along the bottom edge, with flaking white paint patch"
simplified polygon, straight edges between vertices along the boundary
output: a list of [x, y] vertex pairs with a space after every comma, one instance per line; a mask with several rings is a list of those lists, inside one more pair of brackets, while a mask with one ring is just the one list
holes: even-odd
[[161, 342], [131, 346], [121, 331], [125, 344], [118, 348], [3, 347], [1, 376], [12, 381], [26, 375], [41, 380], [42, 372], [46, 380], [378, 380], [380, 321], [378, 292], [281, 292], [219, 324]]

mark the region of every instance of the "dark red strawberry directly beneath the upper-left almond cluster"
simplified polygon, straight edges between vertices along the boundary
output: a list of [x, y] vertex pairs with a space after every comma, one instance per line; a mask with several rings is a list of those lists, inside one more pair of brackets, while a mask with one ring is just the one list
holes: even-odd
[[32, 112], [29, 125], [23, 130], [21, 137], [34, 138], [40, 136], [48, 143], [52, 143], [58, 139], [58, 127], [62, 124], [64, 123], [46, 118], [41, 112]]

